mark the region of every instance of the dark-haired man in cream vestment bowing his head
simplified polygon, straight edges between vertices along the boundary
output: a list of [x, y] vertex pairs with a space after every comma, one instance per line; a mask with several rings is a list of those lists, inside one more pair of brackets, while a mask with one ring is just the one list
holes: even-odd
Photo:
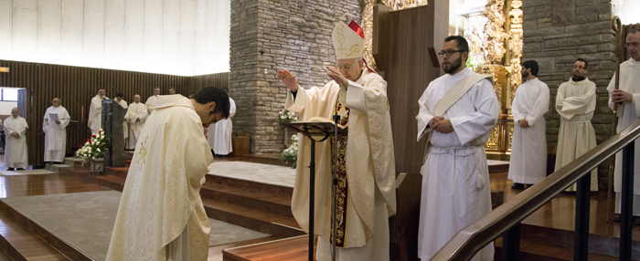
[[163, 96], [155, 104], [133, 153], [107, 260], [205, 261], [210, 228], [199, 191], [213, 157], [203, 126], [229, 115], [229, 97], [205, 87], [194, 99]]

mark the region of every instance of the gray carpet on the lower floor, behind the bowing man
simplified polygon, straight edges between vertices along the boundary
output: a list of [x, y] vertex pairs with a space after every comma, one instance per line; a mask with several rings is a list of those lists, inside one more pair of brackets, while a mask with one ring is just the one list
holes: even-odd
[[[109, 250], [120, 192], [67, 193], [5, 198], [2, 201], [95, 260]], [[269, 235], [210, 219], [209, 246], [228, 245]]]

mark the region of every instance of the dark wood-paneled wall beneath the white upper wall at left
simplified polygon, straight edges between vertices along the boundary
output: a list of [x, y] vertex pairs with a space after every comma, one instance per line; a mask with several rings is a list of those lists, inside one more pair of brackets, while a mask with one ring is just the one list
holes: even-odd
[[87, 128], [89, 105], [99, 87], [105, 88], [110, 99], [115, 98], [116, 92], [123, 92], [124, 100], [131, 103], [135, 94], [140, 94], [142, 102], [146, 101], [155, 87], [160, 87], [161, 94], [175, 88], [176, 93], [187, 96], [203, 86], [227, 86], [229, 82], [228, 72], [184, 77], [9, 60], [0, 60], [0, 67], [10, 68], [9, 73], [0, 73], [0, 87], [27, 89], [27, 146], [29, 164], [34, 166], [44, 165], [42, 119], [56, 97], [62, 99], [62, 106], [69, 111], [71, 120], [77, 121], [67, 127], [69, 153], [90, 136], [91, 131]]

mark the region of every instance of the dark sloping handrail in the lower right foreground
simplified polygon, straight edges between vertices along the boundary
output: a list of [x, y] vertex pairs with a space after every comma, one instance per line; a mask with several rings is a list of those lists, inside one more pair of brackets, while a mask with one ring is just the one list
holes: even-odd
[[640, 137], [640, 120], [629, 128], [582, 154], [578, 159], [551, 173], [547, 178], [517, 194], [485, 217], [469, 224], [453, 236], [431, 260], [470, 260], [496, 237], [533, 214], [544, 204], [581, 177], [590, 174], [600, 163]]

